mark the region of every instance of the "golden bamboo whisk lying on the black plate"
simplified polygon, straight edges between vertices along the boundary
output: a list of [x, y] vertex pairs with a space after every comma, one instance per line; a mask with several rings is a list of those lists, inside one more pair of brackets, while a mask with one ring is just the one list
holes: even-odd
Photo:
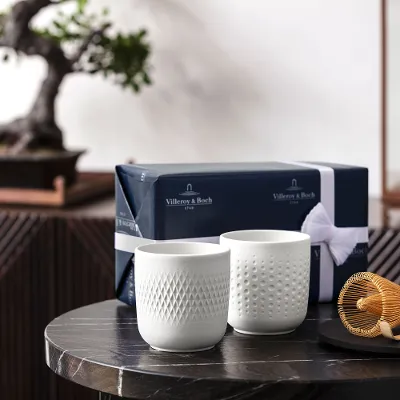
[[400, 325], [400, 286], [372, 272], [355, 274], [340, 292], [338, 311], [352, 334], [379, 336], [380, 321], [391, 328]]

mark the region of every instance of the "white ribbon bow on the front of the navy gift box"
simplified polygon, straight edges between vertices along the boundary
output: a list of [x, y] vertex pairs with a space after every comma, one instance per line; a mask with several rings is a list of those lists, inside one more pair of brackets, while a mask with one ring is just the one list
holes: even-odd
[[312, 244], [326, 243], [336, 265], [342, 265], [360, 242], [359, 228], [337, 228], [322, 203], [310, 211], [301, 231], [310, 235]]

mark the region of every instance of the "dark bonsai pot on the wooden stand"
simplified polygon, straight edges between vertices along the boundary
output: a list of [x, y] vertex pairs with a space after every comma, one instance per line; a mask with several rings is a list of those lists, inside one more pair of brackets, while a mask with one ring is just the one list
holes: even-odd
[[83, 153], [85, 151], [0, 154], [0, 187], [54, 189], [54, 180], [58, 176], [70, 186], [76, 181], [76, 164]]

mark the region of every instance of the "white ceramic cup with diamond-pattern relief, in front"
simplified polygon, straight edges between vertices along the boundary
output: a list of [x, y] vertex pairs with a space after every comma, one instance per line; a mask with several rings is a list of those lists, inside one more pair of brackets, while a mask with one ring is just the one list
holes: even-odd
[[207, 350], [224, 336], [229, 306], [229, 249], [169, 242], [135, 251], [138, 328], [154, 349]]

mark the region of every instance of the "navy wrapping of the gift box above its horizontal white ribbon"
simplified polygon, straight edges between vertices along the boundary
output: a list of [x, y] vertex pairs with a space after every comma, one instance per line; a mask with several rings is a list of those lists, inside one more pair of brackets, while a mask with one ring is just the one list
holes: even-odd
[[[365, 226], [368, 170], [318, 165], [334, 170], [335, 225]], [[290, 163], [116, 167], [117, 222], [135, 221], [140, 235], [149, 239], [217, 236], [237, 229], [298, 230], [320, 198], [320, 171]], [[124, 231], [124, 224], [119, 228]]]

